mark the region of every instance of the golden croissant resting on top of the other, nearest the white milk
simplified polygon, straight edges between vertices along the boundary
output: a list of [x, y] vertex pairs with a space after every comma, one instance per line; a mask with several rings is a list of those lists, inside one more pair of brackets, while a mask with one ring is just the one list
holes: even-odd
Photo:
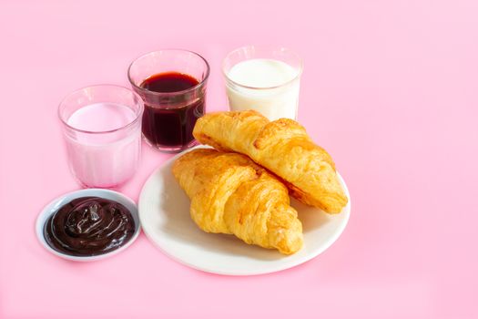
[[193, 135], [216, 149], [248, 155], [283, 179], [299, 201], [330, 213], [347, 204], [331, 156], [292, 119], [270, 122], [253, 110], [210, 113], [198, 119]]

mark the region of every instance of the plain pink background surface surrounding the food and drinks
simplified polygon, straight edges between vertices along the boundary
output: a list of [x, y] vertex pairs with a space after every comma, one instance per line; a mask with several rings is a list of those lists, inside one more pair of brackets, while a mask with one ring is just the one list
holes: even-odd
[[[0, 318], [476, 318], [478, 2], [2, 1]], [[42, 207], [78, 186], [56, 107], [131, 60], [183, 47], [211, 65], [208, 110], [225, 109], [221, 58], [283, 45], [305, 61], [300, 122], [351, 190], [338, 242], [296, 268], [201, 273], [141, 234], [102, 262], [36, 241]], [[168, 155], [144, 147], [133, 199]]]

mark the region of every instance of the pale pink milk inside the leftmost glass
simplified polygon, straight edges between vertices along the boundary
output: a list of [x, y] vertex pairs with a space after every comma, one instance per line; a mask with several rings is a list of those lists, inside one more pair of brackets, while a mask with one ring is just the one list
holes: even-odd
[[112, 188], [137, 170], [141, 148], [140, 120], [127, 106], [94, 103], [76, 109], [66, 124], [70, 169], [86, 187]]

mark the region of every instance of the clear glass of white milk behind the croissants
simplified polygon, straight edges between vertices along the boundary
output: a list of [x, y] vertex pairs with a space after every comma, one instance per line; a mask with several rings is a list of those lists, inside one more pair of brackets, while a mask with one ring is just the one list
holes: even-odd
[[285, 47], [243, 46], [230, 52], [222, 64], [230, 110], [296, 119], [302, 68], [300, 57]]

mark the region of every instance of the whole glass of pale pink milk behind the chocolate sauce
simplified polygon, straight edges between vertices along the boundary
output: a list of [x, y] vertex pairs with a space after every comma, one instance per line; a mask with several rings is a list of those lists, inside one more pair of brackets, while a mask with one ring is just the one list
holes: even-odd
[[58, 108], [68, 165], [87, 188], [117, 188], [137, 170], [143, 101], [127, 87], [98, 85], [68, 95]]

